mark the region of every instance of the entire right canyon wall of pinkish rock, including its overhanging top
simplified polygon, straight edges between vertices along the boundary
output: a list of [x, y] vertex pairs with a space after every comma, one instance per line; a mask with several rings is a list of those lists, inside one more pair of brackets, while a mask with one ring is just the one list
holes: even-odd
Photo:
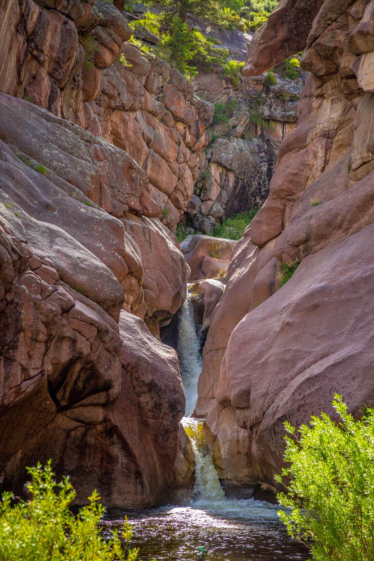
[[[280, 35], [281, 56], [293, 52], [292, 14], [304, 4], [280, 3], [256, 32], [244, 73], [279, 62], [271, 53]], [[243, 485], [275, 485], [284, 420], [298, 426], [320, 411], [334, 415], [334, 392], [354, 415], [374, 400], [373, 2], [316, 6], [298, 43], [307, 45], [302, 67], [311, 76], [297, 128], [280, 146], [266, 203], [233, 250], [198, 383], [196, 412], [207, 415], [219, 475]], [[282, 287], [279, 260], [300, 261]]]

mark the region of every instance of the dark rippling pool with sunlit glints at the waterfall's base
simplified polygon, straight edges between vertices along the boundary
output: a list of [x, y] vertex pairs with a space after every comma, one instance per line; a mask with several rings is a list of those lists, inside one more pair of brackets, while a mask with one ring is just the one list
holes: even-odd
[[104, 535], [121, 528], [126, 514], [132, 545], [143, 561], [286, 561], [309, 559], [276, 516], [277, 507], [253, 500], [209, 507], [190, 504], [141, 511], [110, 511]]

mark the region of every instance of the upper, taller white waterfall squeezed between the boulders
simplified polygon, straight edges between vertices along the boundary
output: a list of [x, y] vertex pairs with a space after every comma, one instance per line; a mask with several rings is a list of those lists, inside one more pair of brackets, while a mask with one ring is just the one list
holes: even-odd
[[[191, 285], [188, 285], [189, 288]], [[191, 415], [197, 400], [197, 380], [201, 373], [202, 358], [198, 340], [191, 295], [187, 292], [179, 319], [178, 347], [179, 369], [181, 370], [184, 394], [186, 394], [186, 416]]]

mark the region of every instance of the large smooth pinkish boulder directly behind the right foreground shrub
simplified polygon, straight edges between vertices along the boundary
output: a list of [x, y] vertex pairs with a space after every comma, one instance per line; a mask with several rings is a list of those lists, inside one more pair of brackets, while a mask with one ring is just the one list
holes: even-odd
[[[306, 257], [284, 287], [234, 329], [215, 399], [224, 411], [234, 408], [236, 430], [245, 429], [248, 482], [274, 485], [283, 467], [285, 420], [298, 427], [320, 411], [335, 418], [334, 393], [343, 394], [354, 416], [373, 401], [373, 236], [371, 224]], [[216, 422], [211, 417], [208, 426]], [[218, 457], [222, 425], [218, 434], [213, 429]], [[235, 479], [246, 454], [242, 449], [218, 460], [226, 463], [223, 478]]]

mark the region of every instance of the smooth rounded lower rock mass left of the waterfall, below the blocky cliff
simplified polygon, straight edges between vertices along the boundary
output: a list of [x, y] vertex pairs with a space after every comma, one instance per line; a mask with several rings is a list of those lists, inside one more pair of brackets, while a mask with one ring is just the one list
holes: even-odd
[[155, 334], [170, 320], [188, 267], [130, 155], [1, 104], [2, 487], [22, 494], [24, 467], [52, 458], [79, 503], [96, 487], [108, 506], [155, 504], [178, 484], [184, 393], [142, 318]]

